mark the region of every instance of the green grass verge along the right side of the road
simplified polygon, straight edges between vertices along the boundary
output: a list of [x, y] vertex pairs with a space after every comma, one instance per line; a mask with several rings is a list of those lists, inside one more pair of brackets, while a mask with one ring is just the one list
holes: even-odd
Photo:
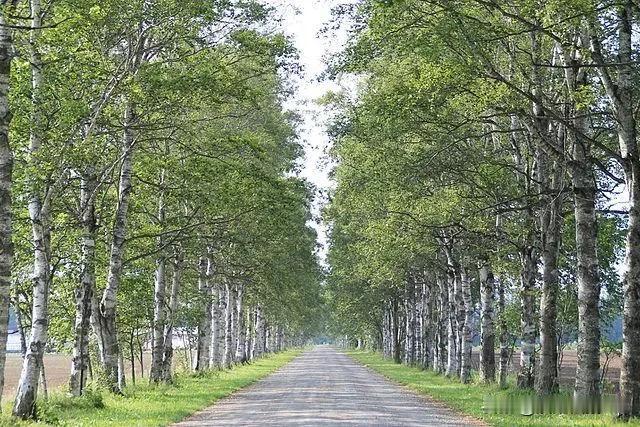
[[640, 421], [616, 422], [613, 415], [504, 415], [485, 413], [482, 406], [487, 394], [508, 396], [515, 390], [499, 390], [497, 386], [461, 384], [431, 371], [398, 365], [378, 353], [347, 351], [347, 354], [385, 377], [414, 391], [446, 403], [457, 412], [496, 426], [630, 426]]

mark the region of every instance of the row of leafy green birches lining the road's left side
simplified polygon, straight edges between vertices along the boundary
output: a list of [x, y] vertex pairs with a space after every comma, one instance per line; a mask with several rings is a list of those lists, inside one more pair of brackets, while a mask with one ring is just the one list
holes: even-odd
[[310, 191], [282, 106], [296, 58], [270, 13], [2, 2], [0, 372], [12, 305], [14, 415], [35, 414], [47, 350], [73, 353], [73, 395], [92, 354], [121, 392], [127, 345], [132, 364], [149, 346], [151, 381], [168, 382], [178, 329], [202, 370], [282, 348], [318, 317]]

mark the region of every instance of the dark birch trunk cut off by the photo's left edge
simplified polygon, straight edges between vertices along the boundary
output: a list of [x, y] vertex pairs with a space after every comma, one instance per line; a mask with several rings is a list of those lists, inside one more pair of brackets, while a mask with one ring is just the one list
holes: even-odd
[[4, 367], [7, 358], [9, 294], [13, 267], [11, 183], [13, 153], [9, 145], [9, 78], [13, 58], [11, 29], [0, 11], [0, 396], [4, 390]]

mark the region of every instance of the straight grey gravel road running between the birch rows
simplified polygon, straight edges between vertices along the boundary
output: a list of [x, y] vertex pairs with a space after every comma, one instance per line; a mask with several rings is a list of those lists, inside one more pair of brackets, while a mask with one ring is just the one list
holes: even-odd
[[176, 424], [202, 426], [483, 425], [393, 384], [326, 346]]

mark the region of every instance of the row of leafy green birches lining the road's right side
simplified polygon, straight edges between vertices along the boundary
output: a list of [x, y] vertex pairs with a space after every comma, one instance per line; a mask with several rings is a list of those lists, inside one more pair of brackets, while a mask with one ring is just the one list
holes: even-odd
[[621, 317], [621, 412], [640, 415], [638, 4], [367, 0], [337, 12], [354, 28], [333, 71], [360, 85], [326, 100], [340, 111], [335, 332], [465, 382], [479, 336], [481, 378], [498, 371], [501, 384], [516, 339], [517, 384], [540, 394], [558, 390], [575, 340], [574, 395], [590, 399], [603, 330]]

